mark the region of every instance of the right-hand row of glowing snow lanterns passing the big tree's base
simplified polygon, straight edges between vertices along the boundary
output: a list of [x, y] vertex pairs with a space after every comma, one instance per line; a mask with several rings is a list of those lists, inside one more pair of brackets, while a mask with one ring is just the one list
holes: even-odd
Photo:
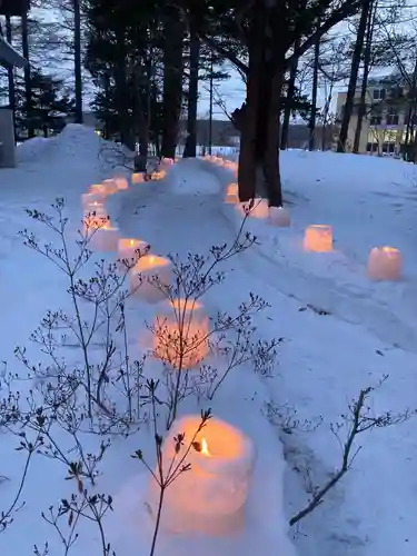
[[[237, 176], [236, 162], [224, 160], [220, 157], [205, 157], [206, 160], [232, 170]], [[229, 183], [226, 190], [225, 202], [236, 205], [237, 210], [245, 212], [246, 205], [239, 201], [238, 185]], [[269, 219], [278, 227], [288, 227], [290, 216], [284, 207], [269, 207], [266, 199], [256, 199], [249, 216], [258, 219]], [[314, 252], [332, 251], [332, 228], [327, 225], [311, 225], [305, 230], [302, 249]], [[399, 280], [403, 274], [401, 254], [395, 247], [374, 247], [368, 256], [367, 275], [371, 280]]]

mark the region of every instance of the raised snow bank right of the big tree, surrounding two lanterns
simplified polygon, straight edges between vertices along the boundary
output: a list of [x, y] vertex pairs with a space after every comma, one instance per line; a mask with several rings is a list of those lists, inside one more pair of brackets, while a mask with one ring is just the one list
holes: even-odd
[[[210, 166], [226, 187], [229, 175]], [[274, 228], [252, 218], [247, 222], [260, 242], [260, 256], [281, 269], [277, 275], [281, 289], [306, 299], [304, 284], [314, 276], [309, 302], [349, 322], [365, 322], [383, 341], [417, 353], [417, 319], [410, 304], [417, 294], [415, 169], [386, 158], [299, 150], [281, 153], [281, 167], [291, 228]], [[237, 229], [242, 217], [234, 206], [222, 210]], [[332, 227], [332, 252], [302, 250], [305, 229], [311, 224]], [[403, 252], [400, 282], [368, 279], [367, 258], [376, 246]]]

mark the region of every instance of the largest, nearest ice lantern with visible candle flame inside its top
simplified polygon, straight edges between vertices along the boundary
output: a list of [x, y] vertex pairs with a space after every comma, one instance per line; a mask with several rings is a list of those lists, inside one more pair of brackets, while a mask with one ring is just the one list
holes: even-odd
[[[249, 437], [221, 419], [209, 419], [197, 433], [200, 423], [197, 415], [182, 417], [163, 441], [162, 476], [169, 476], [172, 459], [178, 463], [183, 458], [182, 465], [190, 468], [166, 489], [161, 526], [175, 533], [227, 535], [245, 525], [255, 448]], [[185, 434], [185, 439], [176, 454], [178, 434]], [[150, 480], [149, 509], [156, 516], [159, 487], [153, 478]]]

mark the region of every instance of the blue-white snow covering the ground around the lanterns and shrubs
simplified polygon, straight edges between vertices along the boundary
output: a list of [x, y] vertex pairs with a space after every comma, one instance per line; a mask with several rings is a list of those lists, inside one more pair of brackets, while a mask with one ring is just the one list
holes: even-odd
[[[58, 138], [26, 142], [19, 147], [19, 167], [1, 170], [0, 358], [20, 377], [26, 370], [13, 358], [14, 347], [26, 345], [34, 361], [46, 361], [28, 338], [47, 309], [68, 307], [60, 272], [21, 245], [17, 234], [22, 228], [46, 234], [24, 217], [23, 208], [47, 210], [56, 197], [64, 197], [75, 232], [81, 218], [81, 193], [112, 171], [99, 151], [100, 139], [92, 131], [69, 126]], [[248, 227], [260, 245], [227, 261], [226, 281], [203, 299], [214, 317], [219, 310], [235, 314], [249, 292], [258, 294], [270, 307], [256, 317], [254, 338], [284, 338], [271, 377], [254, 374], [248, 365], [236, 368], [216, 398], [202, 404], [255, 443], [247, 526], [239, 535], [197, 540], [162, 532], [155, 555], [415, 555], [414, 419], [361, 434], [357, 444], [361, 449], [344, 479], [297, 526], [287, 524], [308, 502], [306, 477], [312, 486], [324, 485], [340, 465], [340, 446], [330, 425], [348, 413], [348, 404], [360, 389], [377, 386], [388, 375], [369, 398], [373, 415], [417, 407], [413, 230], [417, 175], [400, 161], [350, 155], [294, 150], [284, 152], [281, 160], [291, 228], [249, 219]], [[231, 180], [230, 172], [209, 162], [181, 160], [166, 179], [113, 195], [108, 208], [123, 237], [146, 240], [155, 254], [181, 258], [189, 251], [207, 254], [211, 246], [236, 237], [239, 217], [235, 207], [222, 202]], [[304, 229], [310, 224], [332, 226], [335, 252], [302, 251]], [[405, 272], [399, 282], [373, 282], [366, 276], [369, 249], [384, 245], [403, 254]], [[111, 260], [112, 256], [106, 257]], [[129, 299], [132, 359], [147, 347], [143, 321], [157, 311], [158, 305]], [[79, 356], [72, 357], [71, 361]], [[18, 387], [24, 397], [33, 385], [23, 381]], [[266, 417], [268, 404], [278, 408], [276, 425]], [[196, 413], [200, 407], [198, 400], [188, 398], [181, 413]], [[346, 434], [340, 431], [342, 439]], [[62, 434], [60, 441], [64, 447], [68, 438]], [[92, 453], [100, 441], [97, 435], [82, 436], [86, 450]], [[14, 436], [2, 433], [0, 476], [6, 479], [0, 483], [0, 512], [19, 488], [24, 454], [14, 451], [17, 445]], [[113, 512], [105, 525], [117, 556], [150, 552], [152, 522], [143, 506], [149, 474], [130, 457], [137, 449], [153, 467], [155, 448], [147, 426], [126, 439], [112, 437], [97, 479], [97, 492], [113, 497]], [[48, 515], [49, 506], [75, 492], [66, 475], [66, 466], [57, 459], [33, 457], [21, 496], [26, 505], [0, 534], [0, 554], [29, 555], [33, 545], [42, 554], [46, 542], [49, 554], [64, 553], [59, 535], [40, 514]], [[80, 537], [69, 554], [101, 556], [95, 525], [81, 519], [78, 527]], [[62, 529], [68, 533], [69, 526], [63, 523]]]

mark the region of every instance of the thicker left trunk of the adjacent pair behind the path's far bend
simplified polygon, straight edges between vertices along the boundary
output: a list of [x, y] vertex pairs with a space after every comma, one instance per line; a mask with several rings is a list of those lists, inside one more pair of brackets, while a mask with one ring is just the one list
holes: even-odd
[[163, 47], [162, 156], [175, 158], [182, 100], [183, 22], [179, 11], [167, 8]]

